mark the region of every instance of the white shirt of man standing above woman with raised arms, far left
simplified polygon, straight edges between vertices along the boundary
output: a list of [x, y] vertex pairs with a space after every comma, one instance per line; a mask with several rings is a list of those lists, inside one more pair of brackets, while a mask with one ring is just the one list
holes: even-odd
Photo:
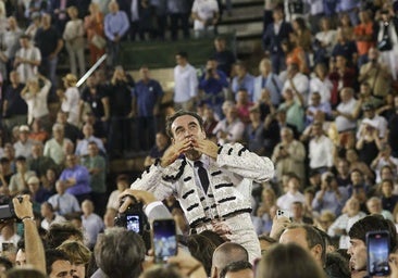
[[[20, 48], [16, 51], [15, 56], [40, 62], [41, 61], [41, 53], [38, 48], [29, 46], [28, 48]], [[16, 72], [20, 74], [20, 80], [23, 84], [26, 84], [32, 77], [36, 76], [37, 74], [37, 66], [30, 63], [20, 63], [16, 67]]]

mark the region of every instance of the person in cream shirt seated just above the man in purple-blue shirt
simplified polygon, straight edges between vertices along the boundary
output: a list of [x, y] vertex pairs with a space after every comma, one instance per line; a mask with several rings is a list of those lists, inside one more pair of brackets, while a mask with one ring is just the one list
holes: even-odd
[[51, 157], [58, 165], [63, 165], [65, 161], [64, 148], [72, 141], [64, 137], [63, 126], [54, 124], [52, 126], [52, 139], [45, 144], [45, 156]]

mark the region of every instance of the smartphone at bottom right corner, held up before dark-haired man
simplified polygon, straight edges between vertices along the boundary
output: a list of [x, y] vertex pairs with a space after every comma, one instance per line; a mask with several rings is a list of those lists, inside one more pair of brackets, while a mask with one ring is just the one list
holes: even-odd
[[368, 274], [369, 276], [387, 276], [390, 273], [388, 265], [389, 233], [386, 230], [370, 231], [366, 233]]

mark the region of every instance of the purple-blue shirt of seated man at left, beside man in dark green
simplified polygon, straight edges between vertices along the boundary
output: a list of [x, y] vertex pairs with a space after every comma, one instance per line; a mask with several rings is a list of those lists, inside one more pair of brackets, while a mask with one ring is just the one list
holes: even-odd
[[65, 168], [61, 173], [60, 180], [66, 181], [70, 178], [76, 179], [76, 184], [66, 189], [66, 193], [80, 195], [91, 192], [90, 174], [85, 166], [76, 165], [73, 168]]

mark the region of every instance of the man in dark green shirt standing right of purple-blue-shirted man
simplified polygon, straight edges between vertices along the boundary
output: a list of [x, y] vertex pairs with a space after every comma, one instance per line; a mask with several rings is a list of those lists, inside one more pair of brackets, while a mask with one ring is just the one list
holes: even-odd
[[82, 157], [82, 165], [90, 174], [91, 200], [96, 207], [96, 214], [103, 216], [107, 204], [107, 163], [105, 159], [99, 154], [96, 142], [90, 141], [87, 146], [88, 155]]

